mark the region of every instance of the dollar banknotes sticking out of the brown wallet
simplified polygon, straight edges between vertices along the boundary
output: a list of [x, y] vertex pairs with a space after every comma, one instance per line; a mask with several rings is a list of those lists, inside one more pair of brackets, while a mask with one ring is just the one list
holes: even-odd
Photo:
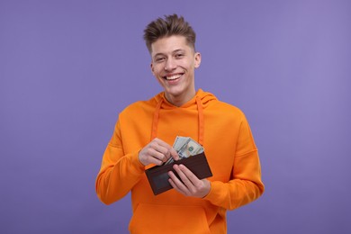
[[[177, 136], [175, 138], [175, 142], [173, 144], [173, 148], [178, 153], [178, 156], [182, 158], [191, 157], [193, 155], [197, 155], [203, 152], [203, 147], [195, 140], [189, 137], [181, 137]], [[173, 157], [170, 157], [166, 164], [170, 164], [174, 161]]]

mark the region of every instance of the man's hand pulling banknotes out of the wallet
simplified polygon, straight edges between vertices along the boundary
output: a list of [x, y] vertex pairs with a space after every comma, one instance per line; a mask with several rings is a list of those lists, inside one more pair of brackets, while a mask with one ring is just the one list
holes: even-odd
[[175, 160], [179, 159], [175, 149], [168, 145], [162, 139], [153, 139], [148, 145], [142, 148], [139, 152], [139, 161], [144, 165], [149, 164], [161, 165], [169, 157], [173, 157]]

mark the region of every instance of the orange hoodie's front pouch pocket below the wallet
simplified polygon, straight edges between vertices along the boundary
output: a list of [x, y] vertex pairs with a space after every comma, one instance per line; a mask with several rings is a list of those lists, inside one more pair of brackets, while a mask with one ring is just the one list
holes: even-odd
[[202, 206], [140, 203], [130, 220], [130, 233], [211, 233]]

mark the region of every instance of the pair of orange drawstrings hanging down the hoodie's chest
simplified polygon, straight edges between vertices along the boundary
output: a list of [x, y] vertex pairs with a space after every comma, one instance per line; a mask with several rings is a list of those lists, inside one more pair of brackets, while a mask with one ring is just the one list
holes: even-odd
[[[160, 101], [156, 105], [156, 109], [154, 112], [154, 118], [152, 120], [152, 129], [151, 129], [151, 140], [157, 137], [157, 126], [158, 126], [158, 119], [159, 119], [159, 112], [161, 109], [161, 105], [164, 102], [164, 99], [161, 98]], [[204, 136], [204, 118], [203, 118], [203, 107], [201, 103], [200, 97], [196, 96], [196, 105], [197, 105], [197, 112], [199, 116], [199, 136], [198, 142], [200, 145], [203, 146], [203, 136]]]

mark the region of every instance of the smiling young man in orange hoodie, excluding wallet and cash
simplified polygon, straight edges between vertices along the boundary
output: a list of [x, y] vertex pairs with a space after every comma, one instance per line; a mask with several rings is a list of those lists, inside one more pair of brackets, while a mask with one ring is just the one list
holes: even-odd
[[[151, 71], [164, 88], [148, 101], [123, 110], [96, 178], [102, 202], [131, 192], [130, 233], [227, 233], [226, 211], [253, 202], [264, 192], [257, 148], [245, 115], [213, 94], [195, 90], [200, 66], [192, 27], [176, 14], [149, 23], [144, 39]], [[179, 157], [176, 136], [205, 150], [213, 176], [198, 179], [184, 165], [169, 172], [174, 187], [154, 195], [145, 170]]]

